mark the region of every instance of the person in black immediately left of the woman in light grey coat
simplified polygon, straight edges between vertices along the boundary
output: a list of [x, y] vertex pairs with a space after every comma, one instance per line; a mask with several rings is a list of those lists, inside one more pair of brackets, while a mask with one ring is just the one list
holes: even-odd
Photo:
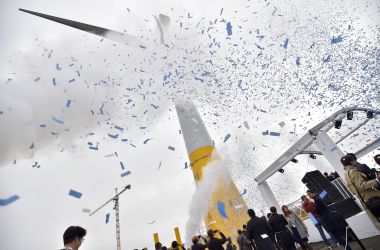
[[277, 214], [277, 209], [275, 207], [271, 207], [270, 211], [272, 215], [269, 219], [269, 224], [274, 231], [276, 243], [278, 243], [283, 250], [296, 250], [293, 235], [286, 227], [288, 221], [282, 214]]

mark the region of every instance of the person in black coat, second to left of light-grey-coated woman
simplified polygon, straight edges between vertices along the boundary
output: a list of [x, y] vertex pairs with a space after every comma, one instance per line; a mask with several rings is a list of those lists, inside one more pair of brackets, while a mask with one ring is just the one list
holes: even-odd
[[251, 217], [247, 223], [248, 239], [255, 241], [257, 250], [276, 250], [272, 229], [265, 218], [257, 217], [253, 209], [248, 209], [248, 215]]

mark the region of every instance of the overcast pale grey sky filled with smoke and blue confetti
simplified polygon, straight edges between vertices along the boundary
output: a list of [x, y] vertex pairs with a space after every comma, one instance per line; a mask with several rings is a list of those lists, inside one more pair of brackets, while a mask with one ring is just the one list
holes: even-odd
[[[146, 49], [18, 8], [126, 32]], [[116, 249], [112, 205], [92, 217], [82, 209], [95, 209], [127, 184], [123, 249], [152, 249], [154, 232], [169, 245], [176, 226], [184, 236], [195, 185], [174, 109], [181, 99], [194, 101], [233, 162], [248, 205], [267, 212], [255, 176], [331, 113], [380, 108], [379, 8], [375, 0], [1, 1], [0, 199], [20, 199], [0, 207], [0, 249], [59, 249], [70, 225], [88, 230], [81, 249]], [[170, 17], [166, 46], [154, 19], [160, 13]], [[377, 138], [378, 124], [342, 149]], [[281, 134], [263, 135], [267, 130]], [[370, 156], [365, 161], [374, 164]], [[298, 199], [300, 179], [316, 167], [333, 170], [305, 156], [274, 175], [269, 183], [279, 202]], [[70, 189], [82, 197], [69, 196]]]

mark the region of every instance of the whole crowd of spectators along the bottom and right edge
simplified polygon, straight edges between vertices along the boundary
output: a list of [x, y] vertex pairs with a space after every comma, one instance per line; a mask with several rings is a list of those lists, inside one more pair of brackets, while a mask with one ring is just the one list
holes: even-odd
[[[380, 166], [380, 154], [374, 157]], [[380, 169], [371, 169], [365, 164], [357, 162], [354, 154], [347, 154], [341, 159], [345, 169], [345, 180], [350, 191], [363, 204], [365, 211], [371, 218], [374, 226], [380, 230]], [[335, 175], [327, 175], [327, 177]], [[323, 198], [315, 190], [307, 190], [307, 195], [301, 196], [302, 209], [308, 213], [316, 229], [326, 245], [332, 249], [333, 245], [342, 245], [351, 250], [347, 243], [347, 223], [344, 218], [331, 211]], [[208, 230], [207, 235], [192, 237], [192, 245], [187, 247], [173, 241], [168, 248], [160, 242], [155, 244], [156, 250], [295, 250], [299, 245], [302, 250], [312, 250], [308, 243], [309, 230], [299, 217], [300, 212], [291, 210], [283, 205], [282, 213], [276, 207], [270, 208], [267, 216], [258, 217], [253, 209], [248, 209], [250, 220], [237, 230], [234, 245], [230, 237], [226, 237], [220, 230]], [[324, 230], [329, 234], [326, 237]], [[64, 235], [64, 249], [78, 250], [84, 240], [86, 230], [81, 227], [69, 227]], [[144, 248], [143, 250], [147, 250]]]

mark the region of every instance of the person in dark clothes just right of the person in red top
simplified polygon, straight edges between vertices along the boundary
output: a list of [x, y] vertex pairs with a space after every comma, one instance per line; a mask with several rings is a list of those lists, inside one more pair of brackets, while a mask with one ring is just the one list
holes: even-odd
[[345, 246], [345, 250], [352, 250], [348, 243], [346, 246], [346, 238], [343, 236], [344, 233], [342, 233], [340, 230], [341, 228], [339, 226], [339, 223], [334, 219], [331, 211], [323, 203], [319, 195], [317, 195], [317, 193], [311, 189], [307, 190], [306, 193], [310, 199], [314, 200], [315, 212], [317, 213], [317, 216], [319, 217], [319, 220], [326, 231], [333, 235], [339, 244]]

